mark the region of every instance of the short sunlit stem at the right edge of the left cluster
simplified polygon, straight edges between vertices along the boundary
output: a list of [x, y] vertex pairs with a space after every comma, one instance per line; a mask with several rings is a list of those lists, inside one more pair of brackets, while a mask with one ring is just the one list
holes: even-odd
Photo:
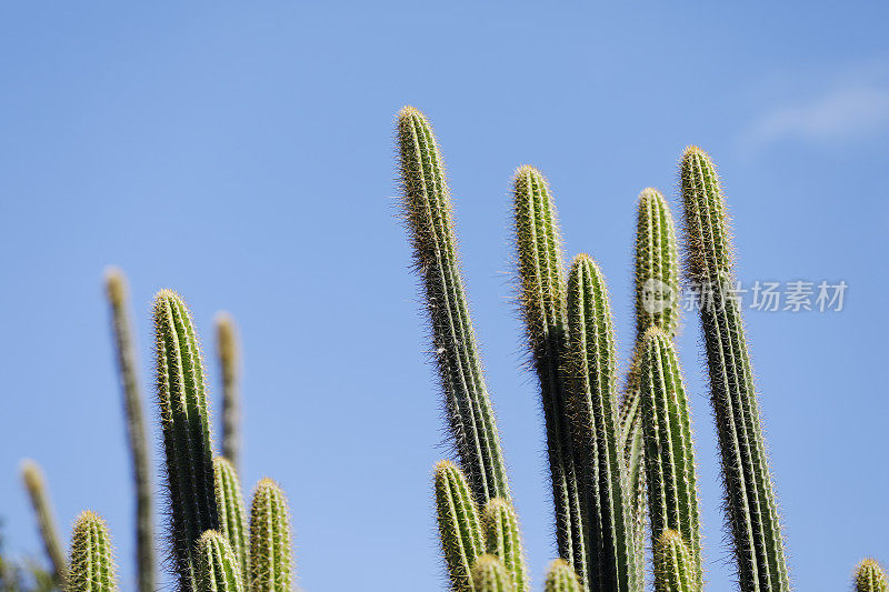
[[271, 479], [262, 479], [250, 509], [250, 590], [290, 592], [292, 544], [284, 492]]

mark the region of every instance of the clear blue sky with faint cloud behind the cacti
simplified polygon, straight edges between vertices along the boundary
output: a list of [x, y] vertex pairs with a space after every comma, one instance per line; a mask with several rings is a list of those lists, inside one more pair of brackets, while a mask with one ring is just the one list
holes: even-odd
[[[3, 4], [10, 550], [40, 553], [18, 480], [30, 456], [63, 530], [84, 508], [108, 519], [133, 586], [101, 290], [113, 263], [130, 278], [147, 387], [158, 289], [189, 302], [214, 393], [212, 318], [237, 318], [244, 488], [267, 474], [286, 488], [306, 590], [444, 589], [430, 472], [448, 450], [396, 218], [393, 117], [410, 103], [432, 120], [449, 167], [536, 583], [553, 544], [538, 393], [512, 301], [510, 175], [539, 167], [568, 254], [601, 263], [626, 368], [635, 199], [648, 185], [675, 198], [678, 158], [697, 143], [720, 167], [745, 282], [849, 285], [841, 312], [747, 313], [796, 588], [848, 586], [863, 555], [889, 561], [889, 270], [878, 259], [889, 230], [887, 19], [878, 2]], [[690, 314], [679, 347], [709, 589], [731, 590]]]

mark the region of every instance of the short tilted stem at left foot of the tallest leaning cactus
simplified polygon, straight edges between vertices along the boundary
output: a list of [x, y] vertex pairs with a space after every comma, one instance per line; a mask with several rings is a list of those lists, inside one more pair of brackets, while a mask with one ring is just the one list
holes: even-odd
[[472, 565], [485, 552], [478, 509], [466, 476], [450, 461], [434, 470], [436, 515], [452, 592], [472, 590]]

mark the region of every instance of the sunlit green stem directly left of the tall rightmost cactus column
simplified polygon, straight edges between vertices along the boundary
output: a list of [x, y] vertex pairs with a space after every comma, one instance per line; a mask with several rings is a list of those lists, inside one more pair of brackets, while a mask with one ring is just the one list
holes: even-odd
[[702, 589], [700, 511], [691, 435], [691, 411], [679, 359], [670, 338], [652, 327], [642, 339], [639, 367], [642, 432], [646, 443], [651, 544], [667, 530], [689, 546], [696, 589]]

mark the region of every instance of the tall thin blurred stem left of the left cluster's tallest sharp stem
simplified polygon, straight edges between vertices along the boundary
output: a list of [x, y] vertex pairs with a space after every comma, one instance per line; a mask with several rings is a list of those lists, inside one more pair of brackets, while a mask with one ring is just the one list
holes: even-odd
[[139, 365], [129, 312], [127, 278], [117, 268], [106, 271], [106, 293], [111, 307], [111, 328], [123, 391], [123, 411], [136, 484], [136, 562], [139, 591], [154, 592], [154, 518], [151, 496], [151, 461], [146, 437]]

